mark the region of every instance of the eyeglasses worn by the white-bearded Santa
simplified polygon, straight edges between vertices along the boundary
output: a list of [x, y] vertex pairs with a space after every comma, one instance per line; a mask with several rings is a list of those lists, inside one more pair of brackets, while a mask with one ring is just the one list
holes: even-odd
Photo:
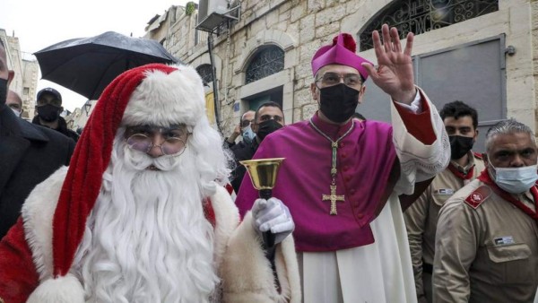
[[[160, 134], [161, 145], [153, 143], [156, 134]], [[130, 149], [138, 152], [150, 152], [153, 147], [159, 147], [165, 155], [174, 155], [185, 150], [187, 126], [127, 126], [126, 143]]]

